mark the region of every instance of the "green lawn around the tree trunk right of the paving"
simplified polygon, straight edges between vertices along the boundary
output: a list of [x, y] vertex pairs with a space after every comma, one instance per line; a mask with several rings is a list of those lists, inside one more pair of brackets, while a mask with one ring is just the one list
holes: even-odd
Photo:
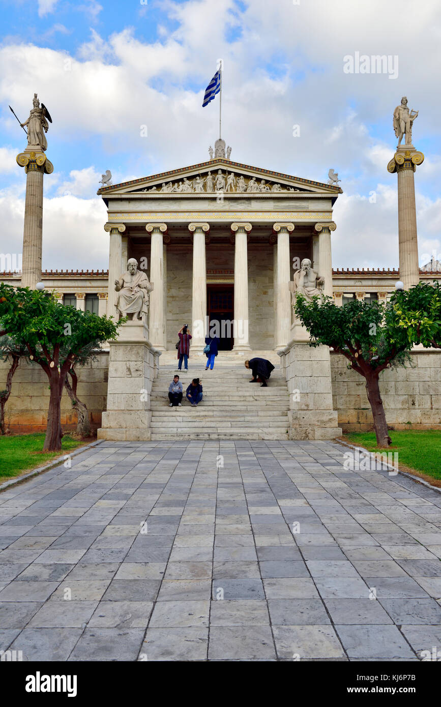
[[[430, 479], [441, 481], [440, 430], [399, 430], [390, 431], [389, 435], [392, 439], [389, 450], [398, 452], [399, 469], [403, 468], [404, 471], [409, 472], [415, 470]], [[351, 444], [365, 447], [370, 452], [379, 450], [375, 432], [348, 432], [344, 438]]]

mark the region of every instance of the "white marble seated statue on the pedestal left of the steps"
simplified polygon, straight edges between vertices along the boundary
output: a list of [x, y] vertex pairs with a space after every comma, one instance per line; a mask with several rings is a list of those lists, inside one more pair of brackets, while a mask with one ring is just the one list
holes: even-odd
[[116, 305], [119, 319], [142, 319], [143, 314], [148, 314], [148, 298], [153, 283], [148, 281], [146, 273], [137, 266], [138, 262], [130, 258], [127, 261], [127, 271], [119, 276], [119, 280], [114, 281], [118, 293]]

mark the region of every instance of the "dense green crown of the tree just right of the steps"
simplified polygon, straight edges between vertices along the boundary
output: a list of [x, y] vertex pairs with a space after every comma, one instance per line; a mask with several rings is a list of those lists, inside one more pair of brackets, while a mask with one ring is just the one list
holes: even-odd
[[403, 366], [409, 360], [411, 344], [394, 335], [392, 308], [377, 300], [353, 300], [338, 307], [330, 297], [308, 302], [299, 294], [295, 312], [310, 332], [310, 346], [331, 346], [362, 375], [367, 370], [380, 373], [386, 367]]

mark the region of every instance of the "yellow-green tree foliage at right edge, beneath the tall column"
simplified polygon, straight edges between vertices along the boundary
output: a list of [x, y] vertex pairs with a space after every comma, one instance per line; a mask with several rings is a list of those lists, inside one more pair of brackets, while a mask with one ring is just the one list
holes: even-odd
[[441, 284], [420, 282], [399, 290], [391, 299], [395, 341], [441, 349]]

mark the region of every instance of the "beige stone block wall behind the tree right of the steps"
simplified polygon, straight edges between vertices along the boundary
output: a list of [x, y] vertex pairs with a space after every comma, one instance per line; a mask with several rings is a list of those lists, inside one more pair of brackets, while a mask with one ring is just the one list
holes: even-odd
[[[380, 373], [387, 423], [396, 430], [441, 429], [441, 351], [416, 350], [412, 368]], [[364, 378], [347, 368], [344, 356], [331, 353], [332, 398], [343, 431], [372, 428]]]

